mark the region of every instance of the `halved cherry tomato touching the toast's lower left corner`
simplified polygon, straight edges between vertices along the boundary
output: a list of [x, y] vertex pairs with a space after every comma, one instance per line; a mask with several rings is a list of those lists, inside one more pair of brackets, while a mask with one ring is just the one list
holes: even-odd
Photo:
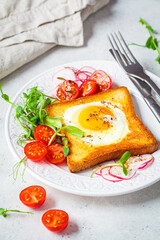
[[51, 144], [47, 147], [47, 160], [53, 164], [62, 163], [65, 160], [63, 146], [60, 144]]

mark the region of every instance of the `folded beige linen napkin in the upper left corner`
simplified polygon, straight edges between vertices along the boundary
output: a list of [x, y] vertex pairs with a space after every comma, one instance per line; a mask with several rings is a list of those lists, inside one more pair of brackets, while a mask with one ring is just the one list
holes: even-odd
[[0, 79], [56, 45], [82, 46], [83, 21], [109, 0], [0, 0]]

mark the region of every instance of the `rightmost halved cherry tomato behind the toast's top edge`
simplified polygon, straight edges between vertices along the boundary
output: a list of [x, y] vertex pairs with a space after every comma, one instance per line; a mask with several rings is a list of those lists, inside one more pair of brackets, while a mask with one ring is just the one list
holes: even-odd
[[110, 76], [108, 76], [108, 74], [102, 70], [94, 71], [90, 78], [99, 84], [101, 91], [106, 91], [112, 86], [112, 80]]

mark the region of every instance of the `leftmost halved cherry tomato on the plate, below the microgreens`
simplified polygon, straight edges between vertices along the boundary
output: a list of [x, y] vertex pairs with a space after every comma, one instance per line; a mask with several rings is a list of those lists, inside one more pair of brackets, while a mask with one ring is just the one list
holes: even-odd
[[30, 142], [24, 147], [24, 153], [26, 157], [33, 162], [38, 162], [46, 156], [47, 147], [44, 143], [39, 141]]

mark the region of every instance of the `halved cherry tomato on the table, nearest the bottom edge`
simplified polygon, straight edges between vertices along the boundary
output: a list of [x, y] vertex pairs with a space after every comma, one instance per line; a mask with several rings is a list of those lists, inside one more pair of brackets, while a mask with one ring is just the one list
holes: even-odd
[[68, 213], [59, 209], [48, 210], [42, 216], [42, 223], [52, 232], [63, 231], [67, 227], [68, 222]]

